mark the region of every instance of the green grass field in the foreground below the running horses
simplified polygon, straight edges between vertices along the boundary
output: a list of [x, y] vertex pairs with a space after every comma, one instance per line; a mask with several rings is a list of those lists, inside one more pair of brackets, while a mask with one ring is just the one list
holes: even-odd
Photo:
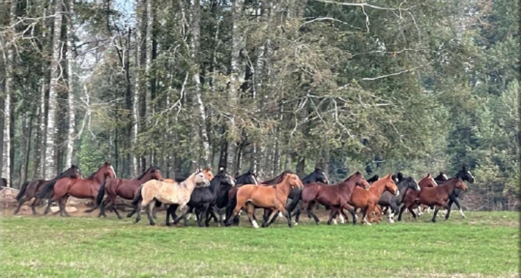
[[[519, 213], [371, 227], [3, 216], [2, 277], [518, 277]], [[164, 216], [160, 214], [160, 220]], [[190, 221], [191, 225], [195, 223]]]

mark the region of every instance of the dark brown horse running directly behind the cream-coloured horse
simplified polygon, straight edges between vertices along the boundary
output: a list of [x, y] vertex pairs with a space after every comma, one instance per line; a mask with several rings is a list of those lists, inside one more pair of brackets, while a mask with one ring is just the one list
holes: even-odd
[[[158, 167], [151, 166], [147, 171], [141, 174], [140, 177], [135, 179], [108, 179], [99, 188], [99, 193], [96, 197], [96, 208], [99, 207], [99, 215], [107, 216], [105, 214], [105, 208], [110, 204], [114, 213], [116, 213], [117, 218], [122, 219], [121, 215], [117, 212], [116, 208], [116, 198], [117, 196], [122, 197], [123, 199], [134, 199], [135, 191], [140, 188], [143, 183], [151, 179], [157, 179], [158, 181], [163, 181], [163, 175], [161, 175], [161, 171]], [[103, 201], [103, 197], [105, 196], [105, 192], [107, 193], [107, 198]], [[102, 204], [103, 201], [103, 204]]]

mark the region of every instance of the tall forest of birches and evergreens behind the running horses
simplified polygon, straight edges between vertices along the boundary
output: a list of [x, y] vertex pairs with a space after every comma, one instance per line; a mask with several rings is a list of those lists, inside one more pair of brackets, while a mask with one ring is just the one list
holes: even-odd
[[514, 0], [1, 0], [1, 177], [415, 179], [518, 209]]

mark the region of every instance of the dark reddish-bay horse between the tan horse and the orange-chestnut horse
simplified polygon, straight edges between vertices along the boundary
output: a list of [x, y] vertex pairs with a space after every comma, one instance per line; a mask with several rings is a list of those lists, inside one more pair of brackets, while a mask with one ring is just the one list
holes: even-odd
[[[300, 211], [306, 208], [308, 215], [313, 216], [318, 224], [320, 220], [313, 213], [315, 203], [329, 206], [330, 208], [336, 207], [338, 209], [345, 208], [350, 210], [352, 206], [349, 205], [349, 202], [351, 202], [352, 193], [356, 186], [360, 186], [365, 190], [369, 190], [370, 187], [360, 172], [352, 174], [351, 177], [337, 184], [308, 183], [302, 189]], [[300, 211], [297, 211], [297, 215], [295, 215], [295, 223], [299, 222]], [[353, 218], [353, 223], [356, 223], [356, 218]]]

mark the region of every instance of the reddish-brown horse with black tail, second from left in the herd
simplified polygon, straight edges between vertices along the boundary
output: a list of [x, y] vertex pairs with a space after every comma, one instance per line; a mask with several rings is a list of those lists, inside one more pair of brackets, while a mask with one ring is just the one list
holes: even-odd
[[[114, 168], [107, 161], [87, 179], [63, 178], [47, 183], [42, 191], [36, 194], [36, 197], [43, 198], [47, 196], [48, 193], [53, 192], [49, 204], [53, 201], [59, 200], [58, 206], [60, 207], [60, 215], [70, 216], [69, 213], [65, 211], [65, 204], [67, 204], [69, 196], [80, 199], [92, 199], [93, 202], [96, 202], [96, 197], [101, 183], [103, 183], [107, 178], [114, 179], [115, 177], [116, 173], [114, 172]], [[49, 213], [49, 209], [50, 206], [45, 208], [44, 215]], [[92, 208], [85, 212], [91, 211], [93, 211]]]

